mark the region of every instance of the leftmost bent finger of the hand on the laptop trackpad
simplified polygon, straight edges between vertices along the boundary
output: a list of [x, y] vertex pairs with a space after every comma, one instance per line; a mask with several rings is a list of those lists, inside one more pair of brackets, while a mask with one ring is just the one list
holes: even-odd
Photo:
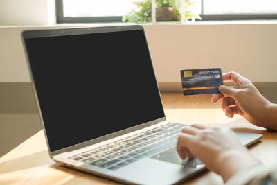
[[191, 152], [189, 152], [189, 154], [188, 149], [186, 148], [187, 146], [190, 146], [193, 142], [194, 139], [192, 135], [186, 133], [182, 133], [179, 135], [176, 149], [181, 159], [185, 159], [186, 157], [188, 157], [188, 155], [192, 154]]

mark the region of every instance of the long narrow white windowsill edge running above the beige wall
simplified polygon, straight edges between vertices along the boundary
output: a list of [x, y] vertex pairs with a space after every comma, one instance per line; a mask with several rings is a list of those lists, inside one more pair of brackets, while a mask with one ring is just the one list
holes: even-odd
[[[133, 25], [135, 23], [62, 23], [62, 24], [41, 24], [41, 25], [19, 25], [19, 26], [0, 26], [0, 28], [18, 28], [18, 27], [68, 27], [68, 26], [118, 26], [118, 25]], [[245, 24], [277, 24], [277, 20], [233, 20], [233, 21], [195, 21], [195, 22], [157, 22], [143, 23], [145, 26], [176, 26], [176, 25], [245, 25]]]

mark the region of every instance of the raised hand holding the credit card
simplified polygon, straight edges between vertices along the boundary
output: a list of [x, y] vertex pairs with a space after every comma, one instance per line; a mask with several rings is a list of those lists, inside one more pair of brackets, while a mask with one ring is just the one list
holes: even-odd
[[232, 81], [235, 87], [221, 85], [222, 94], [213, 94], [212, 103], [222, 99], [222, 110], [232, 118], [239, 114], [253, 125], [277, 130], [277, 105], [266, 100], [250, 80], [238, 73], [222, 74], [223, 81]]

